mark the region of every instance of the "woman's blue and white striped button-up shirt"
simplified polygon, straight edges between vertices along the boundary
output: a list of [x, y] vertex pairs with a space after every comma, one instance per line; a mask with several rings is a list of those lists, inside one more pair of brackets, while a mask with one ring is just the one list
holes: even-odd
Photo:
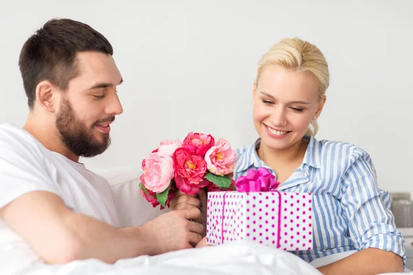
[[[260, 139], [237, 149], [234, 179], [248, 169], [275, 171], [257, 155]], [[390, 195], [377, 188], [370, 155], [348, 143], [308, 140], [299, 168], [281, 186], [284, 192], [313, 193], [313, 250], [292, 252], [304, 261], [349, 250], [392, 251], [405, 263], [405, 242], [394, 224]]]

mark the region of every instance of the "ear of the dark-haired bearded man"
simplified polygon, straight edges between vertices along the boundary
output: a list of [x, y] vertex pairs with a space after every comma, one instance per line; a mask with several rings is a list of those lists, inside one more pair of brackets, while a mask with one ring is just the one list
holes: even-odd
[[56, 111], [58, 89], [50, 81], [43, 80], [36, 86], [36, 102], [50, 113]]

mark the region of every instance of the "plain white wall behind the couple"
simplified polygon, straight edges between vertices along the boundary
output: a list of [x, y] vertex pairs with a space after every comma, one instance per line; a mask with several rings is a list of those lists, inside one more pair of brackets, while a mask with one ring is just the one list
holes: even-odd
[[412, 192], [412, 14], [412, 0], [1, 0], [0, 123], [23, 125], [28, 113], [21, 46], [48, 19], [69, 17], [111, 41], [125, 79], [112, 146], [85, 160], [90, 168], [140, 164], [160, 140], [189, 131], [248, 145], [256, 63], [279, 39], [299, 36], [330, 65], [317, 137], [365, 148], [381, 188]]

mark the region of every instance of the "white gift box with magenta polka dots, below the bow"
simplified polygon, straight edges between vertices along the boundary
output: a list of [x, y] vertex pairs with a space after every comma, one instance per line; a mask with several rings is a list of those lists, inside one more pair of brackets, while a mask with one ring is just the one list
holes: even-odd
[[310, 193], [209, 192], [207, 243], [246, 239], [283, 250], [313, 249]]

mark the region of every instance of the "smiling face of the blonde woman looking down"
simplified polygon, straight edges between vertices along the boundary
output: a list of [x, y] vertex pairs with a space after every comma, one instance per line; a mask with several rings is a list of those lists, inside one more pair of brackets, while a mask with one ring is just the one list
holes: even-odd
[[253, 101], [253, 121], [262, 144], [282, 150], [301, 142], [326, 96], [318, 99], [313, 75], [266, 65], [254, 85]]

